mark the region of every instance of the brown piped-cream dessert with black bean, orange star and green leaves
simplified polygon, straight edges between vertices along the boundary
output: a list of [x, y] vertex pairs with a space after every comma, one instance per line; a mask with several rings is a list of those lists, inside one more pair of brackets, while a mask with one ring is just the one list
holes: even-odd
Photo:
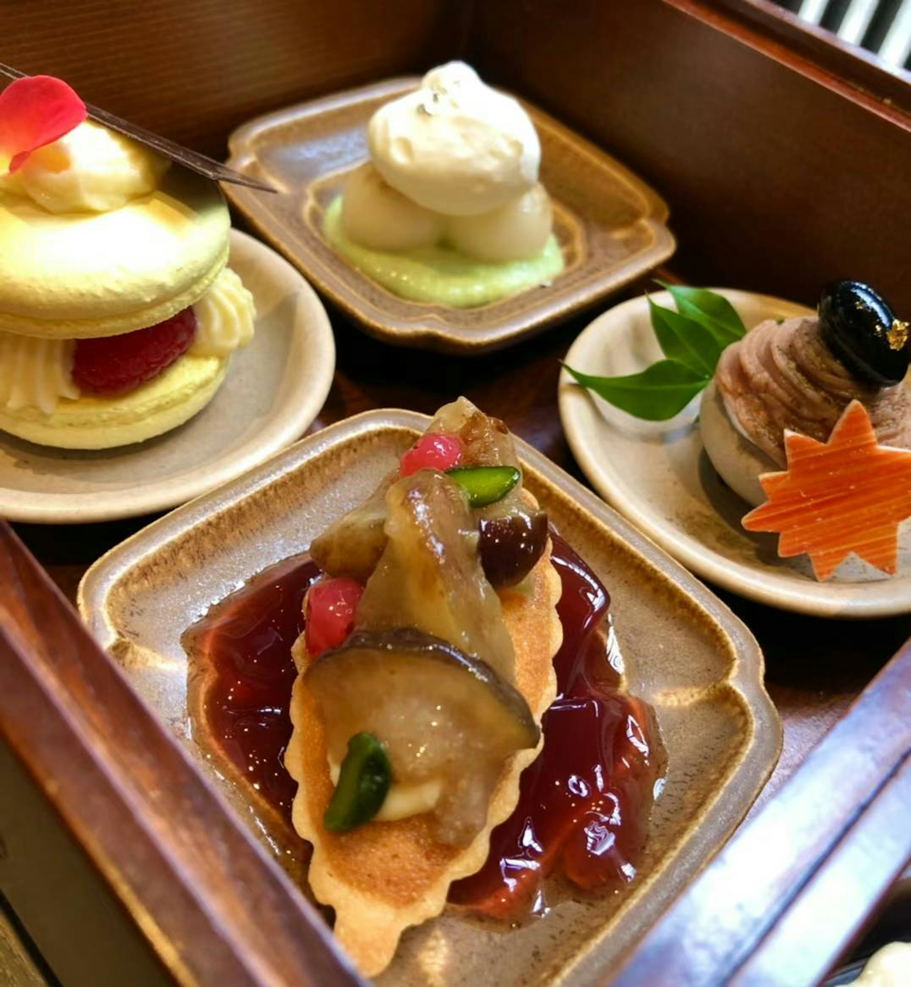
[[629, 376], [570, 375], [653, 421], [702, 393], [706, 453], [755, 505], [745, 530], [778, 534], [779, 555], [808, 556], [817, 579], [852, 555], [897, 574], [911, 544], [908, 324], [859, 281], [824, 288], [817, 316], [749, 332], [723, 296], [666, 287], [676, 312], [648, 299], [664, 359]]

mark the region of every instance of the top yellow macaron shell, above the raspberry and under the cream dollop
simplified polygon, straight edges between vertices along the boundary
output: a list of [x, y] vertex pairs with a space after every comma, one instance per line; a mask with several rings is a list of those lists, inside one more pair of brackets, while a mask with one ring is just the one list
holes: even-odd
[[225, 266], [229, 228], [218, 186], [178, 167], [111, 212], [55, 214], [0, 192], [0, 330], [88, 339], [164, 322]]

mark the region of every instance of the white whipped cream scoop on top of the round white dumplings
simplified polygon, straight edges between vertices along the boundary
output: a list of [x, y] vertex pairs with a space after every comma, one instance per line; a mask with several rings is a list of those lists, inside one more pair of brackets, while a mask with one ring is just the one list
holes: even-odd
[[538, 181], [541, 144], [528, 114], [463, 62], [433, 69], [416, 92], [381, 107], [367, 140], [393, 189], [449, 216], [490, 212]]

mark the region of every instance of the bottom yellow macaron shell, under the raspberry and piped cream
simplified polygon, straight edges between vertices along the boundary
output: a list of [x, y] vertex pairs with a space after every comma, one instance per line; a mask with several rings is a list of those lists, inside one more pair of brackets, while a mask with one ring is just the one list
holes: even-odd
[[0, 429], [60, 449], [110, 449], [161, 435], [192, 418], [212, 400], [230, 356], [186, 353], [153, 380], [128, 394], [85, 394], [61, 401], [44, 415], [37, 408], [0, 410]]

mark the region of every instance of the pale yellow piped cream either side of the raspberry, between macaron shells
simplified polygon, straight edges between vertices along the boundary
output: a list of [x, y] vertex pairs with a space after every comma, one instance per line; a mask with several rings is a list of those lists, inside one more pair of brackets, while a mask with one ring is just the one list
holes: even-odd
[[[256, 308], [253, 295], [229, 268], [192, 306], [196, 336], [194, 356], [227, 356], [253, 339]], [[75, 401], [74, 340], [42, 340], [0, 332], [0, 411], [37, 408], [51, 415], [63, 398]]]

